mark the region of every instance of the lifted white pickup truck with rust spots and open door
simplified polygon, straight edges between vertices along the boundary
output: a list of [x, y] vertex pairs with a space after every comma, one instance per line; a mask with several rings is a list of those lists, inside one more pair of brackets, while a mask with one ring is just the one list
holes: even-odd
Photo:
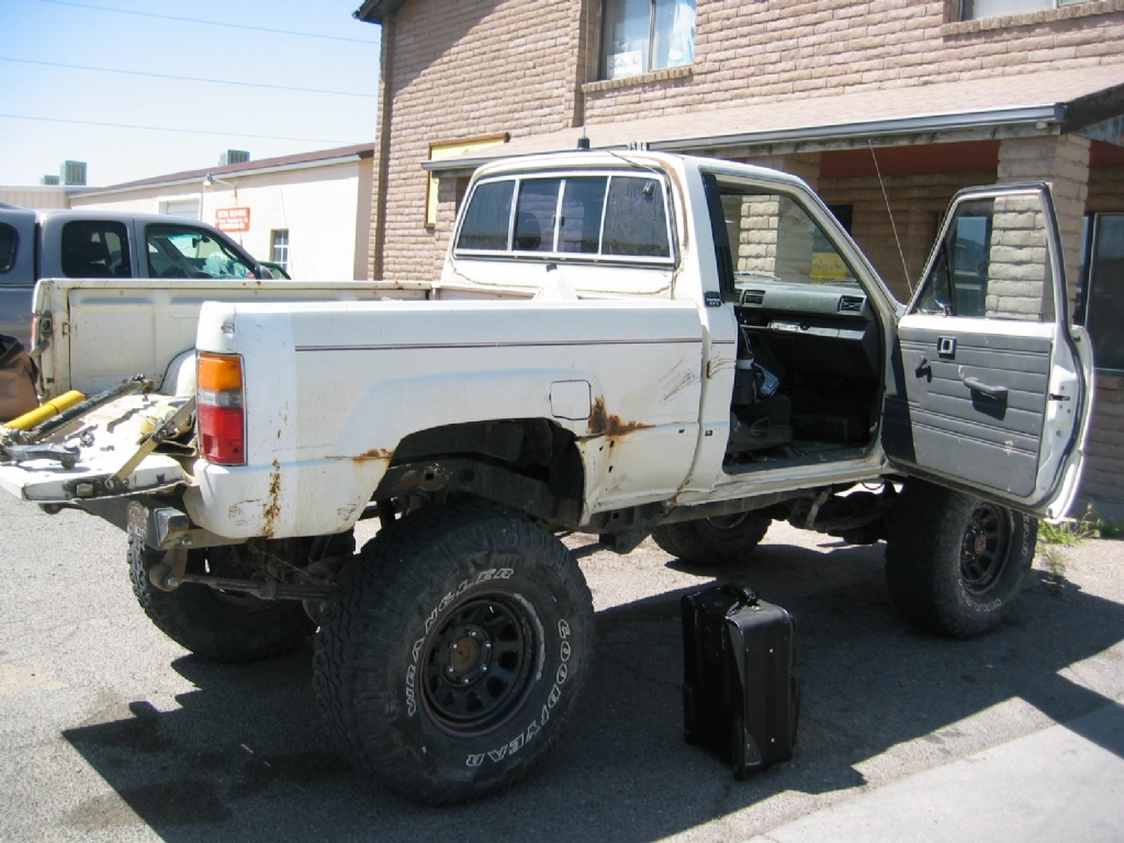
[[772, 519], [885, 538], [900, 611], [970, 636], [1080, 474], [1091, 360], [1043, 184], [958, 194], [907, 306], [800, 180], [632, 152], [482, 167], [439, 282], [283, 284], [42, 282], [45, 393], [147, 380], [9, 435], [0, 486], [127, 529], [140, 604], [200, 655], [319, 627], [332, 729], [427, 803], [515, 781], [572, 711], [593, 610], [559, 534], [703, 566]]

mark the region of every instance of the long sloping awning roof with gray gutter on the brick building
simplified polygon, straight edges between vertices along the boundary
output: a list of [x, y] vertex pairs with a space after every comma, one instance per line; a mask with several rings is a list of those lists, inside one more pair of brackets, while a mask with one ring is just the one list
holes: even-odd
[[582, 136], [592, 148], [643, 145], [667, 152], [768, 155], [845, 149], [868, 143], [1057, 135], [1121, 116], [1124, 64], [1098, 65], [819, 97], [789, 94], [735, 108], [590, 124], [515, 137], [487, 152], [426, 161], [422, 166], [437, 175], [466, 175], [498, 157], [573, 149]]

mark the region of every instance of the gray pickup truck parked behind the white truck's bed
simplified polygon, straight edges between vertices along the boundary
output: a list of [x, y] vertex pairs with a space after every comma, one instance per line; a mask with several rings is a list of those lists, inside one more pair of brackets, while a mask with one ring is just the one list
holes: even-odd
[[0, 333], [30, 347], [40, 278], [271, 278], [206, 223], [157, 214], [29, 210], [0, 202]]

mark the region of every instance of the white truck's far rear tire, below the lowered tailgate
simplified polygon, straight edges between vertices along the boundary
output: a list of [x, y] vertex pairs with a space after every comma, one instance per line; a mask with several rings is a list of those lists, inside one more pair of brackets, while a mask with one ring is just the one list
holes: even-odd
[[[208, 547], [188, 554], [188, 573], [242, 577], [233, 547]], [[161, 632], [196, 655], [217, 662], [250, 662], [288, 653], [316, 629], [294, 600], [259, 600], [187, 583], [161, 591], [148, 569], [164, 554], [129, 536], [133, 593]]]

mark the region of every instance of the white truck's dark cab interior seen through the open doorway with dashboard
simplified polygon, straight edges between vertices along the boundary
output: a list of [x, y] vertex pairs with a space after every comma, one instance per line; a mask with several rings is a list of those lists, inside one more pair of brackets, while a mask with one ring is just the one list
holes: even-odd
[[707, 175], [723, 298], [740, 328], [725, 470], [858, 455], [878, 428], [882, 341], [854, 271], [776, 189]]

